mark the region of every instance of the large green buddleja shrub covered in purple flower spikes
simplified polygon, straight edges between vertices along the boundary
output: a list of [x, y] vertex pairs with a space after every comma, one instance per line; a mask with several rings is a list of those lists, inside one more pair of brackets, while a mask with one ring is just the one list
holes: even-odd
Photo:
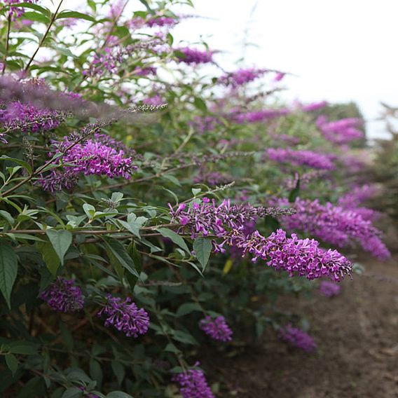
[[338, 294], [337, 249], [389, 255], [361, 119], [271, 107], [283, 71], [226, 72], [174, 43], [188, 0], [141, 4], [1, 1], [5, 397], [214, 397], [201, 348], [275, 329], [311, 352], [278, 295]]

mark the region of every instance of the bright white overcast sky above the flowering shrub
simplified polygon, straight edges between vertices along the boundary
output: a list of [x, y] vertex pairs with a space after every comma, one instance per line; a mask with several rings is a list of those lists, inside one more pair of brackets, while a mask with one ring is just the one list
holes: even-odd
[[[380, 101], [398, 106], [398, 0], [193, 1], [195, 11], [184, 7], [183, 12], [207, 18], [181, 22], [175, 39], [194, 42], [202, 35], [210, 48], [224, 51], [217, 61], [233, 70], [248, 29], [247, 41], [255, 46], [245, 50], [246, 66], [295, 75], [284, 79], [289, 88], [284, 97], [355, 101], [369, 122], [369, 137], [385, 136], [383, 123], [373, 120]], [[137, 0], [131, 3], [143, 8]], [[81, 6], [66, 0], [62, 8]]]

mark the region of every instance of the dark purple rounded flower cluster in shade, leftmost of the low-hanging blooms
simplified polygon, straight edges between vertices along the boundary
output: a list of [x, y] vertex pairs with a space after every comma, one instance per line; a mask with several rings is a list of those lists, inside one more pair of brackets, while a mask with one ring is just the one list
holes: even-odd
[[81, 310], [84, 305], [80, 287], [74, 284], [74, 280], [63, 277], [57, 277], [53, 283], [41, 291], [39, 297], [53, 310], [62, 313], [74, 313]]

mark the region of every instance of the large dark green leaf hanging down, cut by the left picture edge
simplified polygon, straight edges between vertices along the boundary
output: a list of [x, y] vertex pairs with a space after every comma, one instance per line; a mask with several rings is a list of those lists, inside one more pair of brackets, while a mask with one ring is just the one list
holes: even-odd
[[0, 290], [11, 309], [11, 290], [18, 273], [18, 259], [13, 247], [0, 240]]

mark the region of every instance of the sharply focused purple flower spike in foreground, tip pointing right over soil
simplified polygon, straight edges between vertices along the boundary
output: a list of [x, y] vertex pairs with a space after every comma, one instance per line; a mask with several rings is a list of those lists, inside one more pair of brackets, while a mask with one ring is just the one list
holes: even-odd
[[295, 274], [313, 280], [329, 277], [339, 281], [352, 270], [352, 263], [337, 250], [324, 250], [314, 239], [299, 239], [292, 233], [291, 238], [282, 229], [271, 233], [268, 238], [259, 231], [251, 235], [231, 233], [228, 245], [242, 249], [242, 255], [252, 254], [252, 261], [261, 259], [275, 270], [285, 270], [289, 276]]

